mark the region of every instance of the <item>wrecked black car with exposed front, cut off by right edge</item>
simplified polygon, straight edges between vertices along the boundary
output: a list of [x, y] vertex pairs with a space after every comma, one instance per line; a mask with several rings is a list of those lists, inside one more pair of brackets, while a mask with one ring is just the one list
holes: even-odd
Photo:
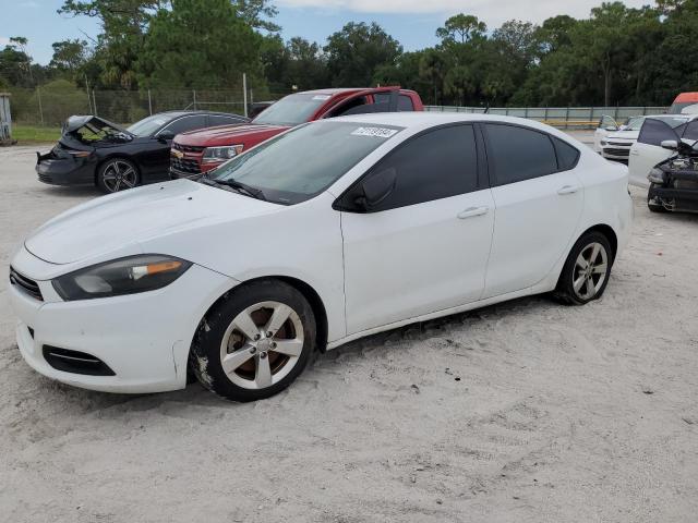
[[647, 205], [653, 212], [698, 212], [698, 142], [667, 139], [661, 146], [676, 151], [647, 177]]

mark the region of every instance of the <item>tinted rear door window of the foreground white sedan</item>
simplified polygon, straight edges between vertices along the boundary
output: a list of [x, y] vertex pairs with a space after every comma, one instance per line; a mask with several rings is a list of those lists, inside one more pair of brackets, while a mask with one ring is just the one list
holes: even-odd
[[496, 185], [522, 182], [556, 172], [557, 156], [545, 133], [508, 124], [488, 123], [488, 159]]

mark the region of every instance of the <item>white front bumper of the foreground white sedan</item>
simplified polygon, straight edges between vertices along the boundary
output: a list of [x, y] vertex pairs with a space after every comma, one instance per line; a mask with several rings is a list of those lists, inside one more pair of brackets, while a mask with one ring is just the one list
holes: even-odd
[[[97, 300], [62, 302], [49, 280], [36, 278], [38, 258], [24, 253], [13, 268], [36, 280], [46, 301], [8, 285], [19, 320], [22, 356], [36, 372], [58, 381], [105, 392], [161, 392], [186, 384], [192, 338], [204, 314], [236, 280], [193, 265], [170, 285], [151, 292]], [[53, 266], [55, 267], [55, 266]], [[24, 269], [24, 270], [23, 270]], [[34, 273], [32, 273], [34, 271]], [[113, 376], [75, 374], [55, 368], [45, 346], [77, 351], [99, 358]]]

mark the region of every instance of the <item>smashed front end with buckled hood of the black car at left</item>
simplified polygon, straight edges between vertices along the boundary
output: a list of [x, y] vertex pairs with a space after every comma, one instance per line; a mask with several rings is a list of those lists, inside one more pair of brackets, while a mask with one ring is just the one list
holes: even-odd
[[48, 154], [37, 151], [39, 181], [51, 185], [94, 185], [97, 148], [119, 146], [134, 135], [119, 125], [94, 115], [70, 117], [61, 138]]

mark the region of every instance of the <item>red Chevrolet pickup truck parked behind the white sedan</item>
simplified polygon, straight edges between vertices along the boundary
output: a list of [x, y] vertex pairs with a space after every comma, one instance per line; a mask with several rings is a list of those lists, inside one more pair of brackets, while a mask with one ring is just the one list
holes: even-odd
[[197, 177], [272, 136], [313, 120], [422, 110], [419, 95], [399, 87], [321, 89], [289, 95], [251, 123], [178, 134], [170, 150], [170, 178]]

